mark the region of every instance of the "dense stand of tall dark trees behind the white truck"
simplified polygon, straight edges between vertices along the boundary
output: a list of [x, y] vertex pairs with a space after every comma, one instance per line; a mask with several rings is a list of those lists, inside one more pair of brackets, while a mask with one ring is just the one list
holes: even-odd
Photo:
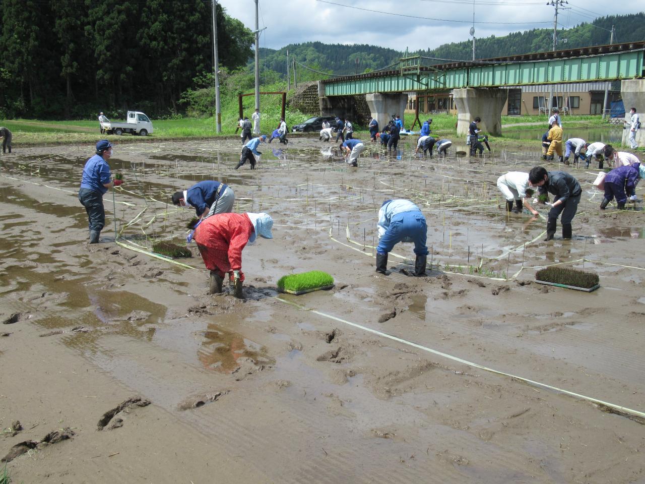
[[[246, 65], [253, 34], [217, 6], [219, 64]], [[181, 111], [212, 72], [208, 0], [0, 0], [0, 119]]]

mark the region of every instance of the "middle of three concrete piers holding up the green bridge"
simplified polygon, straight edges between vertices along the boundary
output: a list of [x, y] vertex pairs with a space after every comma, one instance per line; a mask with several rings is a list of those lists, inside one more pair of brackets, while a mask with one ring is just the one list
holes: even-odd
[[499, 88], [464, 88], [452, 92], [457, 106], [457, 134], [466, 136], [468, 125], [475, 117], [481, 118], [479, 129], [493, 136], [502, 134], [502, 108], [508, 90]]

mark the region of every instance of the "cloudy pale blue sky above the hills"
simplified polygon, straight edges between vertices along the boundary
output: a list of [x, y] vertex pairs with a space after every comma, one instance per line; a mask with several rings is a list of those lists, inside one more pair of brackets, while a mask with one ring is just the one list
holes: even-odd
[[[254, 0], [218, 1], [229, 15], [255, 30]], [[475, 37], [553, 28], [555, 8], [546, 3], [475, 0]], [[635, 13], [639, 3], [570, 0], [559, 10], [558, 26], [568, 28], [595, 17]], [[435, 48], [468, 40], [472, 23], [473, 0], [259, 0], [259, 25], [266, 27], [259, 44], [275, 49], [308, 41], [371, 44], [396, 50]]]

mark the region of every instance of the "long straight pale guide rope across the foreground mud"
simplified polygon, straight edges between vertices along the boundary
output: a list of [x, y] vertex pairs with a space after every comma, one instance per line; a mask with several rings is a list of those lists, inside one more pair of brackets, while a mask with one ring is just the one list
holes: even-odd
[[452, 361], [457, 361], [459, 363], [464, 363], [464, 365], [469, 365], [470, 367], [478, 368], [479, 370], [485, 370], [487, 372], [495, 373], [495, 374], [498, 374], [498, 375], [501, 375], [501, 376], [508, 376], [510, 378], [515, 378], [515, 379], [517, 379], [519, 381], [523, 381], [524, 383], [528, 383], [529, 385], [533, 385], [534, 387], [547, 388], [548, 390], [553, 390], [554, 392], [558, 392], [558, 393], [565, 394], [565, 395], [568, 395], [568, 396], [572, 396], [572, 397], [575, 397], [575, 398], [581, 398], [581, 399], [584, 399], [586, 401], [590, 401], [591, 403], [601, 405], [602, 407], [608, 407], [608, 408], [611, 409], [611, 411], [613, 411], [613, 412], [615, 412], [617, 414], [620, 414], [622, 416], [626, 416], [628, 418], [636, 417], [637, 421], [639, 423], [645, 423], [645, 421], [640, 421], [640, 419], [645, 419], [645, 412], [640, 412], [639, 410], [633, 410], [632, 408], [628, 408], [628, 407], [622, 407], [622, 405], [616, 405], [615, 403], [610, 403], [608, 401], [603, 401], [603, 400], [599, 400], [597, 398], [588, 397], [588, 396], [585, 396], [585, 395], [581, 395], [579, 393], [570, 392], [569, 390], [564, 390], [563, 388], [553, 387], [552, 385], [548, 385], [547, 383], [541, 383], [539, 381], [524, 378], [522, 376], [517, 376], [517, 375], [511, 374], [511, 373], [502, 372], [500, 370], [495, 370], [494, 368], [484, 367], [484, 365], [479, 365], [479, 363], [473, 363], [472, 361], [468, 361], [466, 359], [462, 359], [462, 358], [459, 358], [457, 356], [452, 356], [452, 355], [450, 355], [448, 353], [444, 353], [444, 352], [441, 352], [441, 351], [438, 351], [438, 350], [433, 350], [432, 348], [428, 348], [428, 347], [425, 347], [423, 345], [419, 345], [418, 343], [413, 343], [412, 341], [408, 341], [406, 339], [398, 338], [397, 336], [392, 336], [391, 334], [384, 333], [384, 332], [379, 331], [379, 330], [368, 328], [366, 326], [362, 326], [362, 325], [359, 325], [357, 323], [352, 323], [351, 321], [346, 321], [346, 319], [337, 318], [336, 316], [332, 316], [331, 314], [327, 314], [327, 313], [324, 313], [324, 312], [321, 312], [321, 311], [317, 311], [315, 309], [308, 308], [308, 307], [305, 307], [303, 305], [299, 305], [297, 303], [293, 303], [292, 301], [288, 301], [286, 299], [283, 299], [282, 297], [276, 296], [275, 299], [277, 299], [278, 301], [281, 301], [282, 303], [286, 303], [286, 304], [291, 305], [293, 307], [297, 307], [300, 310], [312, 312], [313, 314], [318, 314], [319, 316], [323, 316], [323, 318], [332, 319], [333, 321], [339, 321], [339, 323], [344, 323], [346, 325], [350, 325], [352, 327], [359, 328], [359, 329], [361, 329], [363, 331], [366, 331], [368, 333], [372, 333], [372, 334], [375, 334], [377, 336], [381, 336], [381, 338], [392, 339], [392, 341], [397, 341], [398, 343], [402, 343], [404, 345], [408, 345], [408, 346], [411, 346], [413, 348], [417, 348], [419, 350], [423, 350], [423, 351], [426, 351], [428, 353], [435, 354], [437, 356], [442, 356], [443, 358], [451, 359]]

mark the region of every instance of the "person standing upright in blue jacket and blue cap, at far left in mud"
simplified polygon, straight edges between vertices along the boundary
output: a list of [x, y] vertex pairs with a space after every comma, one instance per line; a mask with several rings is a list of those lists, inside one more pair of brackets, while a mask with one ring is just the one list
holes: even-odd
[[112, 157], [112, 143], [101, 139], [96, 143], [96, 154], [86, 161], [79, 190], [79, 201], [85, 207], [90, 225], [90, 244], [99, 242], [101, 230], [105, 227], [103, 194], [108, 188], [118, 187], [121, 180], [113, 180], [108, 159]]

